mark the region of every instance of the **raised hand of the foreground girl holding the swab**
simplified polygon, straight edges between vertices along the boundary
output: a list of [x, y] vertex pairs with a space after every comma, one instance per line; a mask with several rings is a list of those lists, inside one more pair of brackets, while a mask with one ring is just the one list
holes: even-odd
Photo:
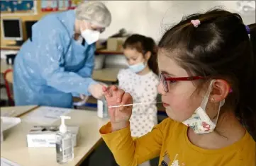
[[108, 103], [108, 114], [110, 116], [112, 131], [126, 128], [129, 124], [133, 106], [116, 108], [109, 108], [109, 106], [133, 104], [133, 97], [129, 93], [118, 89], [115, 85], [109, 88], [104, 87], [102, 90]]

